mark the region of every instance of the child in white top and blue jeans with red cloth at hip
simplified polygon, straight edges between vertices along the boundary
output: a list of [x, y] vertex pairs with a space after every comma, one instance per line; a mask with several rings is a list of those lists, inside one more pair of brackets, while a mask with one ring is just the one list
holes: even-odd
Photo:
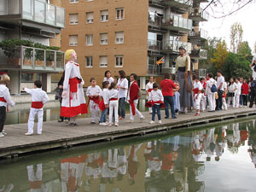
[[101, 108], [102, 110], [102, 114], [101, 114], [101, 119], [100, 119], [100, 125], [108, 125], [107, 124], [107, 113], [108, 113], [108, 87], [109, 87], [109, 82], [108, 81], [104, 81], [102, 83], [102, 102], [100, 102], [99, 108]]

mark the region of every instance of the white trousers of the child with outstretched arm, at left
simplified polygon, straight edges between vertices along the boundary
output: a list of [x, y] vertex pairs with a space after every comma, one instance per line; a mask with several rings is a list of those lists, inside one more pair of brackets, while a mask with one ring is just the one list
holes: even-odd
[[38, 134], [42, 133], [43, 129], [43, 115], [44, 110], [43, 108], [30, 108], [29, 118], [28, 118], [28, 132], [33, 133], [34, 132], [34, 121], [35, 121], [35, 115], [38, 114]]

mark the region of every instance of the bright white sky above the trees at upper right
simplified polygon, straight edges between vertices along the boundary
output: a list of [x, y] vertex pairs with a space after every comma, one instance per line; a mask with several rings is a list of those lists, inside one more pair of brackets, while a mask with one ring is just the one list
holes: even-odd
[[[225, 2], [227, 0], [223, 0]], [[204, 6], [204, 5], [203, 5]], [[202, 6], [202, 7], [203, 7]], [[230, 4], [226, 5], [231, 8]], [[210, 38], [222, 38], [230, 48], [230, 27], [235, 22], [241, 23], [243, 29], [243, 41], [247, 41], [253, 50], [253, 45], [256, 42], [256, 2], [248, 4], [246, 7], [240, 9], [234, 15], [226, 16], [223, 19], [215, 19], [210, 16], [207, 22], [201, 22], [201, 28], [208, 31]], [[217, 15], [211, 9], [208, 10], [210, 15]], [[214, 11], [214, 10], [213, 10]]]

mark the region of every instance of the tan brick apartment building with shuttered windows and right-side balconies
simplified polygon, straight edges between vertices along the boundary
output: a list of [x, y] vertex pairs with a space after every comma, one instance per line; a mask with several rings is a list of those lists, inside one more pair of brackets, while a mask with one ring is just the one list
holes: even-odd
[[[199, 43], [204, 40], [198, 37], [201, 13], [193, 15], [193, 7], [202, 1], [197, 1], [62, 1], [66, 28], [61, 33], [61, 48], [78, 53], [85, 86], [90, 84], [90, 77], [96, 77], [101, 84], [106, 70], [116, 77], [119, 70], [124, 70], [127, 76], [137, 73], [144, 88], [149, 76], [160, 80], [163, 73], [174, 73], [172, 61], [179, 46], [185, 46], [189, 54], [195, 52], [193, 48], [200, 49]], [[195, 52], [195, 63], [201, 55]], [[157, 66], [156, 61], [163, 56], [165, 63]]]

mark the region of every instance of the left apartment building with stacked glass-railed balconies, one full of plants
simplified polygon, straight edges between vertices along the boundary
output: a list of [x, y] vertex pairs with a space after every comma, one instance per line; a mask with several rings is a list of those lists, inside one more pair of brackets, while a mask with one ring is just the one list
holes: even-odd
[[[53, 74], [63, 72], [65, 63], [64, 52], [49, 46], [61, 47], [64, 27], [61, 0], [0, 0], [0, 42], [18, 39], [0, 48], [0, 75], [10, 76], [11, 93], [32, 88], [35, 79], [43, 81], [47, 92], [53, 90]], [[24, 45], [19, 39], [31, 45]], [[37, 43], [42, 48], [33, 46]]]

